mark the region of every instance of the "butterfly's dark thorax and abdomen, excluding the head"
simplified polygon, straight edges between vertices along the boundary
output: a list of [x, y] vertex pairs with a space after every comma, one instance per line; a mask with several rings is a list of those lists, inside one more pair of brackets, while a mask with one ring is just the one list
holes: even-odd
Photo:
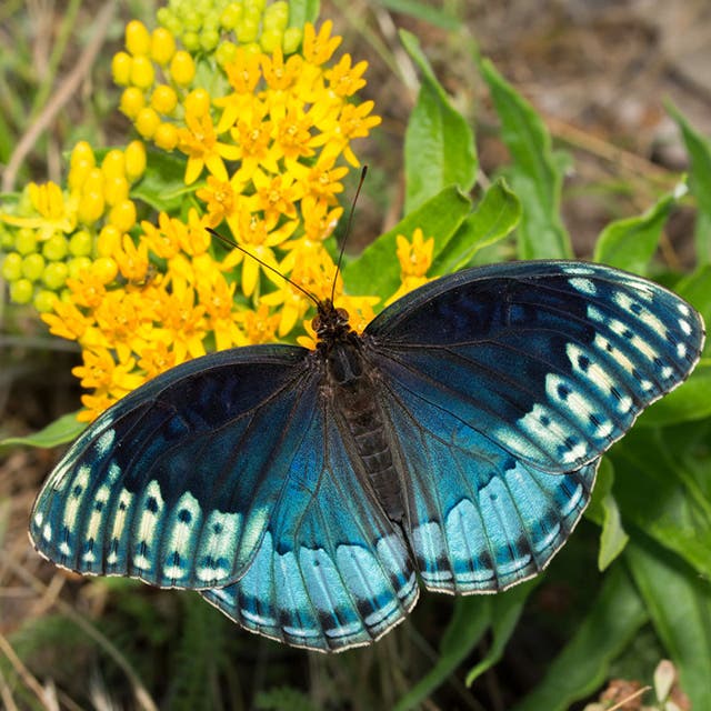
[[330, 393], [370, 489], [392, 521], [404, 514], [402, 488], [385, 434], [384, 413], [362, 350], [356, 339], [334, 343], [327, 359]]

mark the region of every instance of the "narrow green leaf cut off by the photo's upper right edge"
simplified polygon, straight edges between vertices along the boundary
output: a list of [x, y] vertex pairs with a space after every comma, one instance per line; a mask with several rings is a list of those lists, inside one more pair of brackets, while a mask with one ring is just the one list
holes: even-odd
[[671, 102], [667, 102], [667, 110], [681, 130], [691, 161], [689, 188], [699, 210], [694, 229], [697, 259], [708, 264], [711, 262], [711, 141], [694, 130]]

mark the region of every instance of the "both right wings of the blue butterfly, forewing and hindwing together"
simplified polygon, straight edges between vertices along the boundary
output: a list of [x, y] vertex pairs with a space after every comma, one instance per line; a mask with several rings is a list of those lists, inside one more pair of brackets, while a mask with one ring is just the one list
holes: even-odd
[[703, 324], [638, 277], [521, 262], [427, 284], [365, 334], [410, 474], [423, 582], [475, 592], [547, 564], [600, 454], [692, 370]]

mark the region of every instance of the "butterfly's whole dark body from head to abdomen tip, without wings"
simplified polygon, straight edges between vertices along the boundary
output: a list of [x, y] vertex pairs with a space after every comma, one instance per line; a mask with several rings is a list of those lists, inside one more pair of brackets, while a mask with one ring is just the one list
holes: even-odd
[[[319, 304], [313, 319], [317, 349], [326, 370], [330, 399], [348, 448], [358, 455], [369, 488], [392, 521], [402, 521], [402, 488], [387, 437], [385, 414], [378, 398], [377, 379], [363, 352], [363, 340], [349, 324], [348, 312], [330, 300]], [[361, 472], [359, 472], [361, 473]]]

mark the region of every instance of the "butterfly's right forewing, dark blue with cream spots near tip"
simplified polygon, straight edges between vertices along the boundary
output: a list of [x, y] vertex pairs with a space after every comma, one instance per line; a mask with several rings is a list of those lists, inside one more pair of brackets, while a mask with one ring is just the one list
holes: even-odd
[[378, 367], [542, 471], [598, 458], [682, 382], [700, 317], [670, 291], [578, 262], [518, 262], [431, 282], [365, 330]]

